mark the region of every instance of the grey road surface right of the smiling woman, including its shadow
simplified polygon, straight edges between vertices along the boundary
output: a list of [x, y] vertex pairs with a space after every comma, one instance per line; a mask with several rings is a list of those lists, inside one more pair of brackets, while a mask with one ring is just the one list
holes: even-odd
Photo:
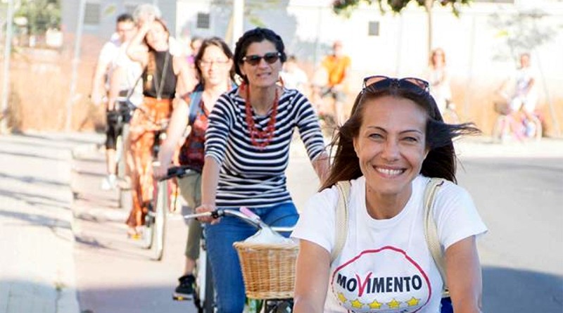
[[563, 312], [563, 157], [469, 158], [459, 180], [489, 232], [485, 312]]

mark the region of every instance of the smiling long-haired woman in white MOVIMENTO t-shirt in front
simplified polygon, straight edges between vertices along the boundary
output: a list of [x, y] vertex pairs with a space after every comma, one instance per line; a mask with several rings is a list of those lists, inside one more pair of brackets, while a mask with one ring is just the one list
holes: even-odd
[[[300, 241], [293, 312], [448, 312], [424, 231], [431, 177], [444, 179], [429, 217], [445, 251], [450, 303], [457, 313], [480, 312], [476, 236], [487, 229], [456, 184], [452, 143], [476, 132], [472, 124], [445, 124], [421, 79], [366, 78], [332, 143], [329, 177], [291, 235]], [[336, 217], [340, 181], [351, 184], [343, 219]]]

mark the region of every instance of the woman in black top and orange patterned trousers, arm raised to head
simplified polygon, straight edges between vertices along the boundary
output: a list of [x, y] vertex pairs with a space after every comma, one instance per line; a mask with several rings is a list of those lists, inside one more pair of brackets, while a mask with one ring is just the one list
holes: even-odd
[[127, 46], [127, 55], [144, 68], [139, 77], [144, 103], [134, 110], [129, 126], [127, 167], [131, 178], [132, 210], [127, 219], [132, 238], [139, 238], [140, 226], [151, 210], [153, 198], [153, 143], [155, 131], [163, 127], [177, 95], [194, 88], [194, 73], [181, 56], [172, 56], [170, 32], [163, 20], [148, 15]]

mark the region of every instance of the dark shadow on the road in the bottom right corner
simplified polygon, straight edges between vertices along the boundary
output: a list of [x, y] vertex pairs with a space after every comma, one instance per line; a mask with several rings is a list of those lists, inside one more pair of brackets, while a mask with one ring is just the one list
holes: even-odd
[[483, 312], [563, 312], [563, 277], [483, 267]]

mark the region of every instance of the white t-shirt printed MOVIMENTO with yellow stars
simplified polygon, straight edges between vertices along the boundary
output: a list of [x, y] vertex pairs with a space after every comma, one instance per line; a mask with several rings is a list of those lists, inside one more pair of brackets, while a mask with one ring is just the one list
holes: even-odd
[[[412, 195], [391, 219], [373, 219], [365, 206], [365, 178], [352, 181], [348, 237], [331, 264], [324, 312], [439, 312], [443, 281], [424, 237], [424, 189], [429, 178], [412, 181]], [[334, 248], [336, 186], [317, 193], [301, 213], [294, 238]], [[434, 220], [444, 248], [487, 231], [469, 193], [446, 182], [436, 194]]]

